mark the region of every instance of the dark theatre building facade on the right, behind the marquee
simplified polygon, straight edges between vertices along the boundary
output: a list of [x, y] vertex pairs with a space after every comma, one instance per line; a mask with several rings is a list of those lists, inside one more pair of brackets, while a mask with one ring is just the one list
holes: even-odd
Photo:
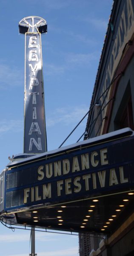
[[[113, 2], [90, 109], [84, 140], [125, 127], [134, 130], [134, 0]], [[128, 195], [134, 197], [134, 191]], [[80, 256], [134, 255], [132, 202], [128, 212], [122, 205], [122, 222], [101, 241], [94, 245], [88, 239], [91, 235], [83, 235], [90, 248], [87, 254], [83, 246], [82, 254], [80, 244]]]

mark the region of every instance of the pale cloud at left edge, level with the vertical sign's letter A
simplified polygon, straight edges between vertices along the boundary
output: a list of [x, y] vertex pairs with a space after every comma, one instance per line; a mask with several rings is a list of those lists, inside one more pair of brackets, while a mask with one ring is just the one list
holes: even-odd
[[5, 132], [19, 132], [23, 130], [23, 120], [2, 120], [0, 121], [0, 135]]

